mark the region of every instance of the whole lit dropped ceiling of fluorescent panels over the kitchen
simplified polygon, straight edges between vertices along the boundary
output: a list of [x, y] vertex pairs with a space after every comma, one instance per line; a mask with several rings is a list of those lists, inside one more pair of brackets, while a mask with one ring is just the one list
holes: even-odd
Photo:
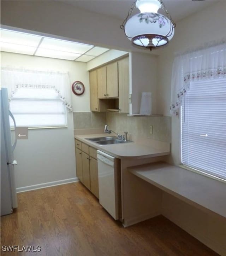
[[1, 29], [1, 51], [88, 62], [109, 49]]

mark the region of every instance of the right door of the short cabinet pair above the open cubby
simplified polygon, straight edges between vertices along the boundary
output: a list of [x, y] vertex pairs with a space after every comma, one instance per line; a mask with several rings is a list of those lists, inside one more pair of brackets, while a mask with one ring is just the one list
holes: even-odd
[[107, 65], [107, 97], [119, 97], [118, 62]]

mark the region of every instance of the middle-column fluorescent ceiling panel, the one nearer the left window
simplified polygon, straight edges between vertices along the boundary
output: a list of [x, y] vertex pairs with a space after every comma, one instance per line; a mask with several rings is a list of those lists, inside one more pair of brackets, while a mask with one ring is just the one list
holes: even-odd
[[73, 53], [73, 52], [63, 52], [63, 51], [48, 50], [48, 49], [42, 49], [42, 48], [38, 48], [35, 55], [41, 56], [41, 57], [67, 59], [67, 60], [74, 60], [74, 59], [78, 58], [79, 56], [81, 56], [81, 54], [77, 54], [77, 53]]

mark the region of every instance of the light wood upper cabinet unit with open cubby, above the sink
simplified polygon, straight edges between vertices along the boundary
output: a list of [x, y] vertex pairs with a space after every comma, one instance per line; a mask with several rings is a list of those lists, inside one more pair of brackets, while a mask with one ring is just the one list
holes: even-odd
[[90, 109], [129, 113], [129, 57], [90, 71]]

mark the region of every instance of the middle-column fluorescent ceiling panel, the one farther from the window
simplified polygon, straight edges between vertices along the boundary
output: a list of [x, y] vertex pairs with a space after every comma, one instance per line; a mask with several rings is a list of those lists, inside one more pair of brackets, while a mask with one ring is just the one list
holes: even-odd
[[83, 43], [75, 43], [59, 39], [44, 38], [39, 48], [83, 54], [93, 48], [93, 45], [85, 45]]

